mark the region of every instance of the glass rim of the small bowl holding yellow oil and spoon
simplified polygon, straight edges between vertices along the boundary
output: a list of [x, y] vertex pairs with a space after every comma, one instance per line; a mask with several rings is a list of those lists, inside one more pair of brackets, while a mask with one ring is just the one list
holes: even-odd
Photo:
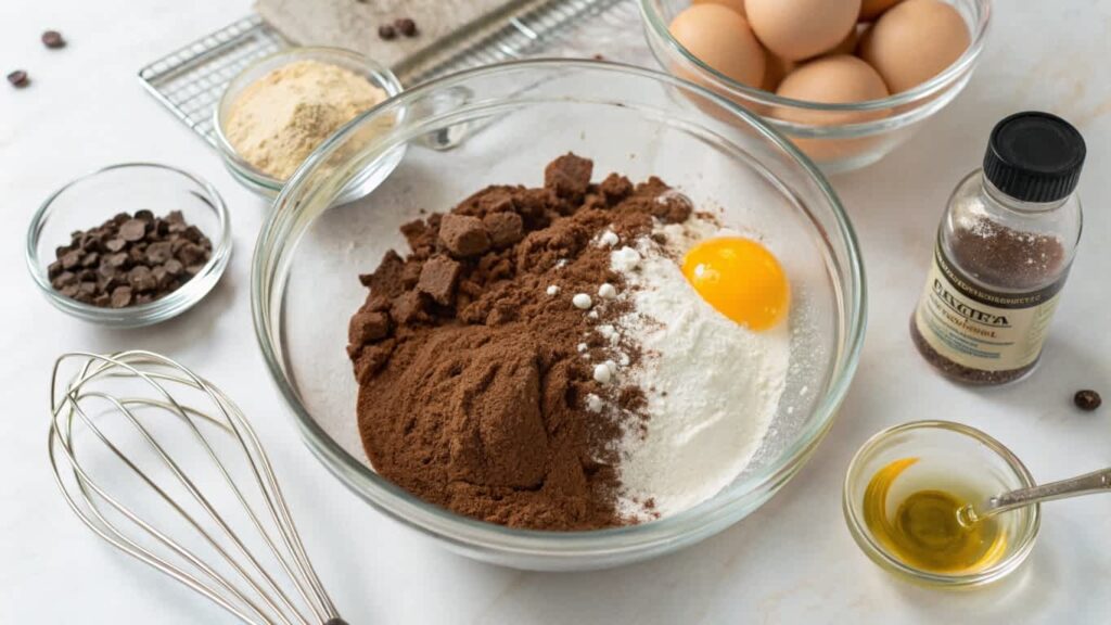
[[1030, 469], [1027, 468], [1022, 460], [1013, 452], [1011, 452], [1009, 447], [979, 428], [957, 421], [923, 419], [881, 429], [865, 440], [864, 444], [860, 446], [860, 449], [853, 454], [852, 460], [849, 462], [849, 468], [845, 470], [844, 486], [842, 488], [842, 508], [845, 517], [845, 524], [849, 526], [849, 530], [852, 534], [853, 539], [855, 539], [857, 544], [860, 546], [861, 550], [863, 550], [871, 559], [877, 562], [877, 564], [879, 564], [882, 568], [902, 574], [918, 582], [937, 586], [971, 586], [985, 584], [999, 579], [1014, 571], [1015, 567], [1027, 559], [1027, 556], [1030, 555], [1030, 552], [1033, 549], [1034, 543], [1038, 539], [1038, 534], [1041, 530], [1040, 504], [1030, 506], [1030, 519], [1022, 528], [1021, 533], [1018, 534], [1020, 543], [1013, 548], [1008, 549], [1007, 557], [994, 565], [984, 568], [983, 571], [957, 575], [933, 573], [904, 564], [902, 560], [892, 556], [887, 549], [881, 547], [872, 537], [872, 533], [864, 527], [863, 520], [858, 518], [857, 504], [854, 503], [851, 493], [852, 487], [859, 484], [859, 480], [852, 479], [853, 474], [859, 472], [860, 467], [858, 465], [879, 446], [892, 437], [915, 430], [943, 430], [971, 438], [987, 447], [998, 457], [1002, 458], [1012, 474], [1022, 483], [1022, 487], [1037, 485]]

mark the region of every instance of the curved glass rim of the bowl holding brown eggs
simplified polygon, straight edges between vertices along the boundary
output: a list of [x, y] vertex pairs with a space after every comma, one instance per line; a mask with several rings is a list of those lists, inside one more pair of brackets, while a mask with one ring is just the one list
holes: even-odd
[[[945, 87], [954, 82], [960, 76], [964, 75], [969, 69], [971, 69], [980, 58], [980, 53], [983, 51], [984, 41], [987, 39], [988, 30], [991, 24], [992, 16], [992, 0], [971, 0], [977, 6], [981, 8], [981, 16], [979, 22], [973, 24], [973, 30], [970, 32], [971, 41], [969, 42], [968, 49], [953, 61], [944, 71], [934, 76], [930, 80], [915, 86], [912, 89], [902, 91], [901, 93], [895, 93], [894, 96], [888, 96], [879, 100], [865, 100], [862, 102], [848, 102], [848, 103], [822, 103], [812, 102], [809, 100], [797, 100], [793, 98], [784, 98], [782, 96], [777, 96], [771, 91], [764, 91], [763, 89], [758, 89], [755, 87], [750, 87], [743, 85], [729, 78], [728, 76], [713, 69], [701, 59], [692, 54], [687, 50], [684, 46], [679, 43], [674, 37], [671, 36], [671, 31], [668, 24], [663, 21], [663, 16], [655, 10], [655, 6], [660, 0], [639, 0], [640, 12], [642, 20], [650, 29], [652, 36], [659, 41], [663, 42], [672, 53], [678, 53], [687, 62], [693, 65], [702, 73], [709, 75], [715, 81], [721, 82], [730, 91], [739, 92], [745, 99], [751, 100], [755, 103], [771, 107], [790, 107], [795, 109], [805, 109], [822, 112], [860, 112], [860, 111], [875, 111], [881, 109], [889, 109], [895, 107], [902, 107], [909, 103], [922, 103], [928, 101], [935, 93], [942, 91]], [[871, 127], [879, 121], [889, 121], [890, 119], [881, 118], [879, 120], [865, 121], [852, 125], [834, 125], [837, 127]], [[778, 119], [773, 119], [777, 123], [780, 122]], [[805, 123], [794, 123], [794, 122], [783, 122], [791, 123], [793, 126], [810, 128], [812, 125]]]

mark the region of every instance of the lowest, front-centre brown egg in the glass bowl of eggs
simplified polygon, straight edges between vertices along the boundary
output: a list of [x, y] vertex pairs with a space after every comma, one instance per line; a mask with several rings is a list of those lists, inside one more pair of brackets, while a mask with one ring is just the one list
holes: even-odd
[[[871, 66], [850, 54], [822, 57], [805, 63], [783, 79], [777, 95], [794, 100], [828, 105], [879, 100], [889, 96], [883, 79]], [[885, 117], [877, 111], [815, 111], [777, 107], [772, 117], [784, 121], [832, 126], [859, 123]]]

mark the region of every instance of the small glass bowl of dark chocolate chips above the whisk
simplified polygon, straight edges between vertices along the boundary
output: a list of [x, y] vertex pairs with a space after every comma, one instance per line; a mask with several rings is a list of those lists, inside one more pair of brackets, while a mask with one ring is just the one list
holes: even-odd
[[27, 264], [60, 310], [126, 328], [189, 309], [231, 256], [228, 210], [208, 182], [154, 163], [82, 176], [31, 220]]

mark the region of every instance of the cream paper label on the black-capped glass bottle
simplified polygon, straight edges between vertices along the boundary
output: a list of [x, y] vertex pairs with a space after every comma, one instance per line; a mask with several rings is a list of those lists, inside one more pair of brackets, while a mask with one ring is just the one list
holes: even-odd
[[1031, 292], [987, 289], [954, 267], [939, 246], [914, 323], [949, 360], [981, 371], [1010, 371], [1038, 359], [1063, 286], [1064, 276]]

